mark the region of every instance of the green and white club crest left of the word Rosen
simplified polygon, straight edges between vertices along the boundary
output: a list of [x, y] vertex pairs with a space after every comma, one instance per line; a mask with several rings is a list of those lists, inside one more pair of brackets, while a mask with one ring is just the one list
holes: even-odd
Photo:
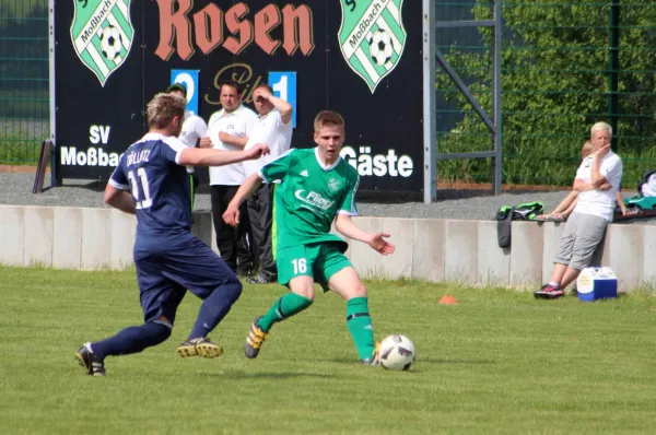
[[78, 57], [98, 78], [101, 86], [126, 61], [134, 28], [131, 0], [77, 0], [71, 42]]

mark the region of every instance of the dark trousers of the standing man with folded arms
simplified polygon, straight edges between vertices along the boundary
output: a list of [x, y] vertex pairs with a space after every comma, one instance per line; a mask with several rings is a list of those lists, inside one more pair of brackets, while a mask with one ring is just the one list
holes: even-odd
[[216, 248], [233, 272], [247, 272], [253, 269], [253, 255], [248, 244], [250, 222], [246, 203], [239, 208], [239, 225], [236, 228], [223, 221], [223, 213], [234, 198], [239, 186], [211, 186], [212, 221], [216, 233]]

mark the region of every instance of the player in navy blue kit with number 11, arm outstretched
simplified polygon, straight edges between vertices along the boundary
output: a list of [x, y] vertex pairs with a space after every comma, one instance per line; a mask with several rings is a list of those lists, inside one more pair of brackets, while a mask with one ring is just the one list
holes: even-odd
[[[191, 198], [186, 166], [221, 166], [268, 154], [266, 145], [248, 151], [191, 149], [177, 137], [186, 102], [157, 94], [148, 105], [149, 132], [121, 155], [105, 189], [105, 202], [137, 215], [134, 266], [144, 324], [106, 340], [85, 343], [77, 358], [89, 375], [104, 376], [108, 355], [138, 353], [164, 342], [185, 293], [203, 299], [180, 356], [215, 357], [223, 349], [207, 339], [242, 294], [235, 273], [191, 235]], [[130, 193], [125, 190], [129, 190]]]

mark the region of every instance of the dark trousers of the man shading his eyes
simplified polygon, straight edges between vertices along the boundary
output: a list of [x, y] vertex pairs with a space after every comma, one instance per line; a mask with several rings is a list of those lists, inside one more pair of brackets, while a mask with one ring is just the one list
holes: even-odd
[[254, 252], [259, 259], [260, 271], [269, 277], [278, 275], [273, 249], [271, 246], [271, 228], [273, 225], [273, 185], [262, 185], [248, 199], [248, 216], [253, 235]]

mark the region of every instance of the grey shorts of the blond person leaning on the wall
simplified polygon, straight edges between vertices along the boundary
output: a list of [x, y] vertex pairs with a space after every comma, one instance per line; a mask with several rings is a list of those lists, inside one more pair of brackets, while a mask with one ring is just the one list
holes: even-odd
[[609, 222], [604, 217], [593, 214], [570, 214], [555, 262], [576, 270], [583, 270], [588, 266], [601, 266], [608, 224]]

